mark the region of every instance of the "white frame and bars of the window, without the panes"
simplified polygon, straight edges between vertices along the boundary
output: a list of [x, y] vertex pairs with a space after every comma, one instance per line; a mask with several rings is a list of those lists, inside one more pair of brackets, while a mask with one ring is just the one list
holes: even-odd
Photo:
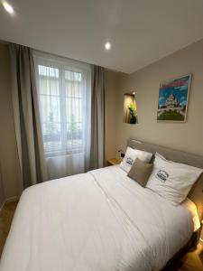
[[[52, 65], [52, 63], [54, 62], [54, 66]], [[46, 67], [51, 67], [54, 69], [58, 69], [59, 70], [59, 78], [54, 78], [51, 77], [51, 79], [56, 79], [57, 81], [59, 81], [59, 91], [60, 91], [60, 135], [61, 135], [61, 146], [60, 149], [52, 149], [49, 150], [49, 148], [46, 148], [46, 146], [44, 145], [44, 134], [43, 134], [43, 128], [42, 128], [42, 138], [43, 138], [43, 145], [44, 145], [44, 153], [46, 157], [52, 157], [52, 156], [59, 156], [59, 155], [68, 155], [68, 154], [78, 154], [78, 153], [83, 153], [84, 152], [84, 148], [85, 148], [85, 142], [84, 142], [84, 136], [82, 135], [81, 138], [81, 145], [77, 145], [77, 146], [72, 146], [71, 148], [69, 148], [69, 146], [67, 145], [67, 135], [68, 135], [68, 117], [67, 117], [67, 98], [73, 98], [73, 97], [69, 97], [66, 96], [66, 82], [69, 81], [71, 83], [76, 82], [77, 84], [81, 84], [81, 88], [82, 88], [82, 95], [81, 95], [81, 102], [82, 102], [82, 109], [84, 109], [84, 107], [86, 107], [86, 101], [85, 99], [87, 99], [87, 93], [84, 94], [83, 91], [84, 89], [87, 90], [87, 88], [89, 87], [90, 89], [90, 65], [85, 64], [85, 63], [81, 63], [78, 61], [71, 61], [71, 60], [65, 60], [59, 57], [52, 57], [49, 59], [46, 56], [43, 56], [43, 53], [39, 53], [37, 55], [34, 55], [34, 63], [35, 63], [35, 73], [36, 73], [36, 77], [38, 77], [37, 79], [37, 91], [38, 91], [38, 100], [39, 100], [39, 107], [40, 107], [40, 112], [41, 112], [41, 99], [40, 96], [41, 95], [46, 95], [46, 94], [41, 94], [40, 91], [40, 86], [39, 86], [39, 80], [40, 78], [44, 77], [47, 78], [46, 75], [40, 75], [39, 71], [38, 71], [38, 66], [42, 65], [42, 66], [46, 66]], [[81, 73], [81, 81], [75, 81], [74, 79], [66, 79], [65, 76], [65, 72], [66, 71], [70, 71], [70, 72], [77, 72], [77, 73]], [[84, 84], [85, 86], [82, 87], [82, 84]], [[89, 86], [88, 86], [89, 85]], [[89, 95], [90, 95], [89, 91]], [[50, 96], [50, 95], [48, 95]], [[58, 97], [58, 95], [56, 95]], [[79, 98], [79, 97], [77, 97]], [[78, 122], [77, 122], [78, 123]], [[81, 121], [79, 122], [81, 123], [82, 126], [82, 134], [83, 134], [83, 129], [84, 126], [86, 125], [84, 123], [84, 119], [83, 117], [81, 118]], [[42, 124], [42, 117], [41, 117], [41, 125]]]

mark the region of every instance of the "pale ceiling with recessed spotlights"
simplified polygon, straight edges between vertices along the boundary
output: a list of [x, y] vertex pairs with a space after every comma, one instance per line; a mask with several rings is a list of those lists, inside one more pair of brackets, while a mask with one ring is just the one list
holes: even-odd
[[[9, 2], [9, 1], [8, 1]], [[11, 0], [0, 39], [132, 73], [203, 38], [202, 0]], [[112, 43], [110, 51], [105, 43]]]

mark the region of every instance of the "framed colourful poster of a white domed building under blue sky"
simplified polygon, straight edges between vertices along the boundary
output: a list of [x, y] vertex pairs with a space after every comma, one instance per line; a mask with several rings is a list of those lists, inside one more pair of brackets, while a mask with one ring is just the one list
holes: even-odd
[[185, 122], [191, 74], [160, 84], [157, 121]]

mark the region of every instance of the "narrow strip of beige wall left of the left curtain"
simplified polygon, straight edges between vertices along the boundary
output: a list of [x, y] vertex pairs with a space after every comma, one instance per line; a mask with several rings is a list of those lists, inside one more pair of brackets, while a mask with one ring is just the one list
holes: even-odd
[[0, 43], [0, 163], [5, 198], [15, 197], [20, 193], [19, 164], [14, 135], [9, 51], [4, 43]]

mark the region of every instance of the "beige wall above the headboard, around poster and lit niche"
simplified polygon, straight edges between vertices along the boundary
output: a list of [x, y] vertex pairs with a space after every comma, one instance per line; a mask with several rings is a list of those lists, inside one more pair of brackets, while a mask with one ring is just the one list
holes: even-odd
[[[158, 90], [165, 79], [193, 73], [186, 123], [157, 123]], [[123, 123], [124, 93], [135, 91], [137, 125]], [[128, 137], [203, 155], [203, 40], [131, 75], [120, 75], [117, 98], [116, 145]]]

